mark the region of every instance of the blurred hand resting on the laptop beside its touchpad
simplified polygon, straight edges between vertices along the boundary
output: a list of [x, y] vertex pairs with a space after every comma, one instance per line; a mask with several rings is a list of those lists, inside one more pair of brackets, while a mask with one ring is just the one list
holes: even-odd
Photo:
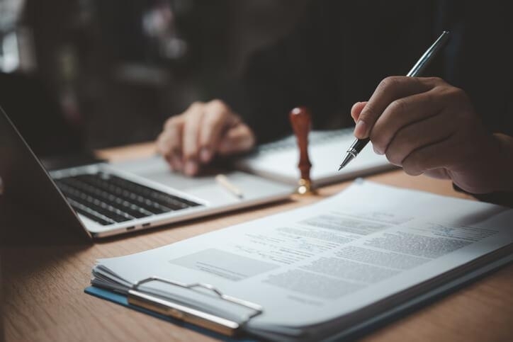
[[195, 102], [164, 123], [157, 151], [172, 169], [196, 175], [215, 154], [244, 152], [255, 144], [252, 130], [219, 100]]

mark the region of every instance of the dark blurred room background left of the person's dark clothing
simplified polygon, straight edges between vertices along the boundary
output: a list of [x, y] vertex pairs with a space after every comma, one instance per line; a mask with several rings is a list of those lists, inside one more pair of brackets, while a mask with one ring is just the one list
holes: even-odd
[[52, 139], [64, 152], [155, 139], [170, 115], [228, 91], [306, 2], [0, 0], [0, 106], [43, 154]]

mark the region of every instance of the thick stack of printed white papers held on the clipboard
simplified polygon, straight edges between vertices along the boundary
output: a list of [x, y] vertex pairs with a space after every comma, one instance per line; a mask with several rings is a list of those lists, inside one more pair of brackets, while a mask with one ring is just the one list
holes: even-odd
[[[249, 334], [317, 341], [511, 260], [512, 222], [506, 207], [356, 181], [307, 207], [100, 259], [92, 284], [126, 292], [152, 275], [208, 283], [263, 307], [245, 324]], [[248, 315], [201, 290], [142, 288], [222, 317]]]

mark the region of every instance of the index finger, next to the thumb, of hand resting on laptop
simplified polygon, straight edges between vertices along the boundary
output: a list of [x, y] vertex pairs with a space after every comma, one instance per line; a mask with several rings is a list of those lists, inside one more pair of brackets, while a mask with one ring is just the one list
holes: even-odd
[[206, 163], [212, 159], [218, 144], [227, 127], [237, 124], [239, 119], [231, 113], [221, 101], [211, 101], [205, 108], [203, 125], [201, 125], [199, 143], [200, 160]]

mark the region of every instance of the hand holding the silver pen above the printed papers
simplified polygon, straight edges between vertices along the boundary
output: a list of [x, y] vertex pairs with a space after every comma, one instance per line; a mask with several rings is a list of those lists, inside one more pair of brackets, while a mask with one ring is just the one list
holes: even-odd
[[466, 93], [442, 79], [388, 77], [351, 116], [354, 135], [410, 175], [450, 178], [470, 193], [513, 189], [511, 138], [487, 132]]

